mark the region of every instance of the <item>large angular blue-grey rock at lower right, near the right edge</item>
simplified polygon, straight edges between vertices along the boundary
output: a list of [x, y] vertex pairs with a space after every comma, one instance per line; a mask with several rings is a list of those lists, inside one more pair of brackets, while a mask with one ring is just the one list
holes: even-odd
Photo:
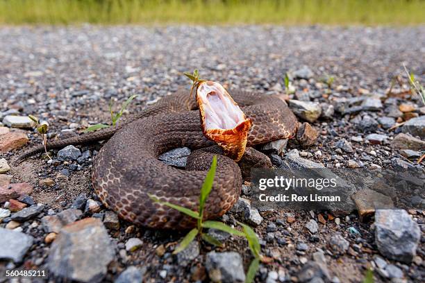
[[421, 237], [419, 226], [403, 209], [377, 209], [375, 242], [388, 259], [410, 263]]

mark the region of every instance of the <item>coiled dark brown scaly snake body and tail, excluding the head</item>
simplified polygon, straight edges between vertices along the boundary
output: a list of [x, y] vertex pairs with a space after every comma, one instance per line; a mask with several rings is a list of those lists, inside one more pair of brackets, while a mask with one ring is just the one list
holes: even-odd
[[[247, 146], [295, 135], [297, 119], [277, 96], [238, 90], [229, 93], [252, 121]], [[94, 158], [92, 184], [107, 207], [122, 218], [149, 228], [184, 229], [194, 225], [194, 219], [153, 203], [147, 196], [149, 193], [160, 200], [197, 210], [203, 179], [218, 151], [210, 147], [215, 143], [203, 135], [197, 105], [188, 91], [181, 89], [160, 99], [122, 126], [53, 141], [47, 148], [102, 139], [109, 140]], [[183, 146], [194, 150], [185, 170], [158, 160], [161, 153]], [[42, 150], [42, 146], [33, 148], [19, 160]], [[238, 200], [241, 186], [238, 164], [218, 155], [204, 217], [217, 218], [227, 212]]]

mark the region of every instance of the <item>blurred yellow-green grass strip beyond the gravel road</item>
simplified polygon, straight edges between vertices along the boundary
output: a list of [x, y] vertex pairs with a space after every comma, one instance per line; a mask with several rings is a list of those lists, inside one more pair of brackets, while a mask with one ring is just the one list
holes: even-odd
[[424, 24], [424, 0], [0, 0], [0, 24]]

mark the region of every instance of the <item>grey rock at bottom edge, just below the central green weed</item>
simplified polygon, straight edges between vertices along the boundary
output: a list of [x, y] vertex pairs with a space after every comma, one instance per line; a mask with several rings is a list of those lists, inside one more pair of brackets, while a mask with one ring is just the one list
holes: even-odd
[[210, 280], [213, 282], [245, 281], [242, 257], [238, 252], [208, 252], [205, 266]]

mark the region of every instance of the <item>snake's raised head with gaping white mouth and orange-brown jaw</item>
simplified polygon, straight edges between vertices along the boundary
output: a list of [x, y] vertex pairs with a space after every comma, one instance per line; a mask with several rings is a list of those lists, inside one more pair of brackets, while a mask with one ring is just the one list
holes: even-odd
[[199, 83], [196, 98], [203, 135], [217, 142], [226, 156], [238, 162], [247, 146], [251, 120], [219, 83], [209, 80]]

